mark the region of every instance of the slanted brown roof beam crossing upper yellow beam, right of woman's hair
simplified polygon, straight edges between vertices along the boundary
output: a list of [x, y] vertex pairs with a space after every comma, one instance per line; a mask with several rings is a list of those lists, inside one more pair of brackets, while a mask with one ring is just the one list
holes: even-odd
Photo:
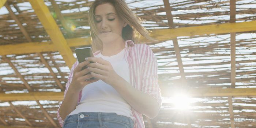
[[[173, 16], [172, 16], [172, 8], [170, 7], [170, 3], [169, 0], [163, 0], [163, 3], [165, 5], [165, 12], [166, 12], [166, 16], [168, 19], [168, 25], [170, 29], [174, 29], [174, 24], [173, 24]], [[172, 39], [173, 41], [173, 46], [174, 46], [174, 51], [175, 51], [175, 55], [176, 55], [176, 59], [178, 62], [178, 67], [180, 70], [180, 75], [181, 75], [181, 88], [187, 87], [187, 82], [186, 82], [186, 76], [185, 76], [185, 72], [184, 72], [184, 67], [182, 64], [182, 59], [181, 59], [181, 54], [180, 54], [180, 48], [178, 45], [178, 40], [177, 37]]]

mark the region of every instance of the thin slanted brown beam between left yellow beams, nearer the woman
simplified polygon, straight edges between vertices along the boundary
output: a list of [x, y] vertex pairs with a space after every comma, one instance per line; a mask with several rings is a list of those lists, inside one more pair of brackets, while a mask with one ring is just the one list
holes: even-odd
[[37, 53], [38, 56], [40, 57], [42, 63], [45, 65], [46, 68], [48, 68], [48, 70], [50, 71], [50, 74], [53, 76], [53, 78], [55, 79], [57, 85], [60, 87], [60, 89], [62, 91], [65, 90], [65, 88], [63, 87], [63, 85], [60, 83], [60, 80], [57, 78], [57, 76], [55, 75], [55, 73], [52, 71], [52, 68], [50, 67], [50, 65], [47, 63], [47, 61], [45, 60], [44, 56], [41, 53]]

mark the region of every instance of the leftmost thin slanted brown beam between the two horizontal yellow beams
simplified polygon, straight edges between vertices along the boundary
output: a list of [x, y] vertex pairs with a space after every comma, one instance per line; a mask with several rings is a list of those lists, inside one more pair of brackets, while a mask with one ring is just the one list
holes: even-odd
[[8, 59], [6, 56], [2, 56], [2, 58], [7, 61], [7, 63], [12, 67], [14, 70], [15, 74], [22, 80], [24, 86], [27, 88], [29, 91], [33, 91], [32, 87], [27, 83], [27, 81], [23, 78], [23, 76], [19, 73], [18, 69], [11, 63], [11, 60]]

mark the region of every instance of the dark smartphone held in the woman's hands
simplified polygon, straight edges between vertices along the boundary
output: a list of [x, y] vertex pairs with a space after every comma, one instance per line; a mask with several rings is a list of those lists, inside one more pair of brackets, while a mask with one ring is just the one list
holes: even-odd
[[[83, 61], [85, 61], [84, 59], [86, 57], [94, 57], [93, 50], [91, 49], [91, 47], [76, 48], [75, 53], [79, 63], [82, 63]], [[93, 62], [90, 62], [90, 63], [93, 63]], [[87, 66], [84, 66], [82, 70], [86, 68]], [[95, 79], [95, 78], [90, 78], [90, 79]]]

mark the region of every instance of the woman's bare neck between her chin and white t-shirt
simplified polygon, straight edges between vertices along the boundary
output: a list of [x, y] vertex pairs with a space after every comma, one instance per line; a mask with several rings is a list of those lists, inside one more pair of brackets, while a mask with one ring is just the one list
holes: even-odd
[[111, 42], [103, 42], [103, 56], [113, 56], [125, 48], [124, 39], [116, 39]]

